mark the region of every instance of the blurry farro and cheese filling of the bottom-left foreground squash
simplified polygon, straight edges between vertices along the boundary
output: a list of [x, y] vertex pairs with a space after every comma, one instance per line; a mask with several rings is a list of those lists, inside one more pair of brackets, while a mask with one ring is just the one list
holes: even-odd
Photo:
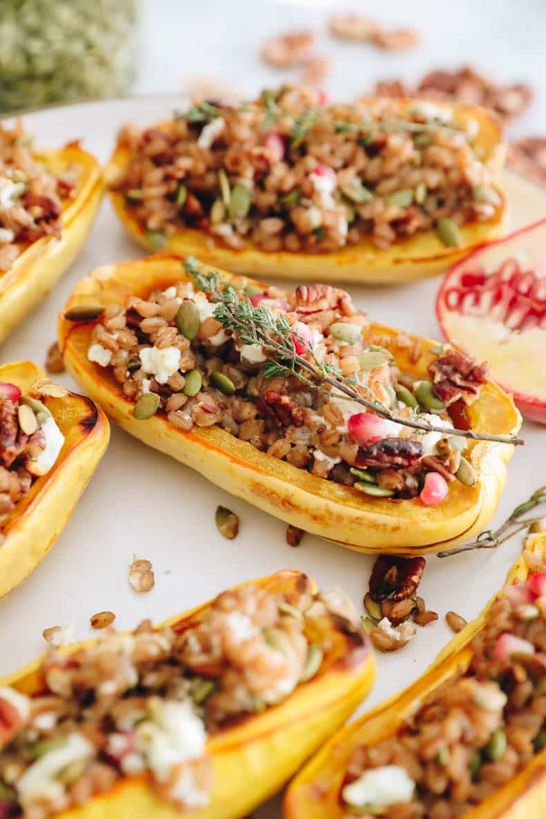
[[145, 621], [75, 654], [50, 649], [38, 695], [0, 689], [0, 815], [45, 819], [143, 773], [164, 799], [204, 807], [207, 738], [319, 671], [324, 618], [364, 640], [340, 592], [298, 587], [279, 595], [250, 584], [172, 627]]

